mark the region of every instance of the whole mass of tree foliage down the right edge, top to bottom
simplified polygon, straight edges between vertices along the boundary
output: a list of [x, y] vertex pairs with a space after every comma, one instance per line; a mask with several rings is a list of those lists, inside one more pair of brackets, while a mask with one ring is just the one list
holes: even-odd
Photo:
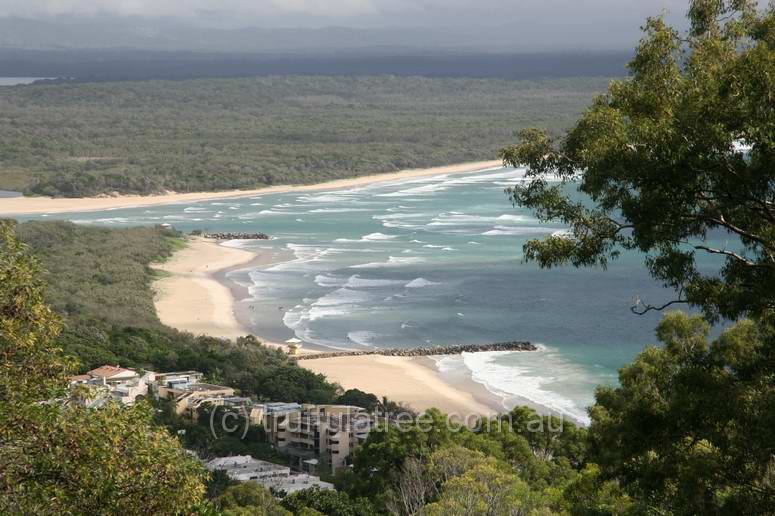
[[[514, 202], [571, 228], [528, 242], [528, 259], [605, 265], [638, 249], [677, 292], [639, 311], [683, 303], [704, 314], [667, 315], [662, 346], [625, 366], [620, 387], [598, 391], [589, 458], [601, 478], [642, 512], [772, 514], [775, 6], [696, 0], [689, 17], [686, 37], [650, 19], [632, 77], [612, 83], [564, 138], [525, 131], [502, 155], [530, 168]], [[572, 185], [592, 207], [563, 194]], [[727, 243], [714, 247], [709, 235]], [[699, 253], [722, 265], [700, 270]], [[708, 323], [722, 318], [736, 323], [708, 342]]]

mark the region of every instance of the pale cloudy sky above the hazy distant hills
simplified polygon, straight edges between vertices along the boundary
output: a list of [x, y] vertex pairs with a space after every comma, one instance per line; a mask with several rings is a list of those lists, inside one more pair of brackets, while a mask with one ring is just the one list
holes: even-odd
[[173, 16], [230, 26], [410, 27], [553, 21], [601, 31], [646, 16], [683, 16], [688, 0], [0, 0], [0, 16]]

